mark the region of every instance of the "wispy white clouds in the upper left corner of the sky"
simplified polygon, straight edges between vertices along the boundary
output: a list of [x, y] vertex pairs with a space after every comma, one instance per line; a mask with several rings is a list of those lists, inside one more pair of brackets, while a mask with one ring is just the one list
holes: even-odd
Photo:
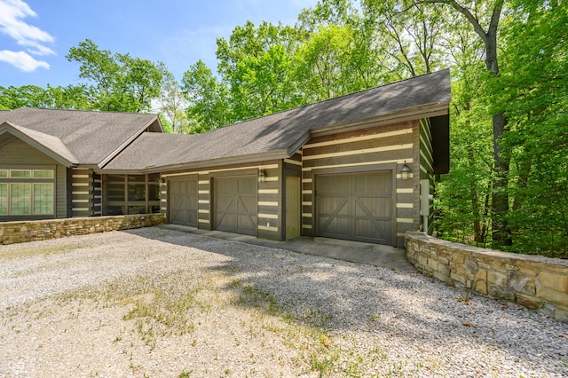
[[27, 3], [22, 0], [0, 0], [0, 33], [10, 36], [24, 51], [0, 51], [0, 60], [20, 68], [22, 71], [34, 71], [37, 67], [49, 68], [49, 64], [31, 57], [33, 55], [55, 54], [46, 44], [55, 42], [55, 39], [46, 31], [28, 24], [23, 19], [36, 17]]

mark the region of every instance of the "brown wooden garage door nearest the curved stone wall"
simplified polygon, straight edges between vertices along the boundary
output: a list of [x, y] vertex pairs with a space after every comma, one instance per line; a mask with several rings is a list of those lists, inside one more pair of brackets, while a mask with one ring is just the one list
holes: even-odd
[[317, 178], [318, 235], [392, 244], [390, 171]]

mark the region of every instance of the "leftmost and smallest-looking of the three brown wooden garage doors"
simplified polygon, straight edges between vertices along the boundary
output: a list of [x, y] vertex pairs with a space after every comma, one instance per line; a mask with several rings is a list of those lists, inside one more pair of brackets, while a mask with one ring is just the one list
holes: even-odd
[[170, 181], [170, 223], [197, 227], [197, 180]]

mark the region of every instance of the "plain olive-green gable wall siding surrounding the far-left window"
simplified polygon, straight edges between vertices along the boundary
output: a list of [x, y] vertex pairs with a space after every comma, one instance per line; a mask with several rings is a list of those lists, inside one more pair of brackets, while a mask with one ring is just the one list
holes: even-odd
[[[58, 161], [51, 159], [46, 154], [36, 148], [29, 146], [28, 143], [16, 139], [5, 146], [0, 147], [0, 165], [4, 169], [18, 169], [19, 166], [26, 166], [25, 169], [53, 169], [55, 167], [55, 217], [66, 218], [67, 215], [67, 167], [59, 164]], [[49, 167], [47, 167], [49, 166]], [[2, 220], [15, 218], [44, 219], [53, 216], [24, 216], [24, 217], [2, 217]]]

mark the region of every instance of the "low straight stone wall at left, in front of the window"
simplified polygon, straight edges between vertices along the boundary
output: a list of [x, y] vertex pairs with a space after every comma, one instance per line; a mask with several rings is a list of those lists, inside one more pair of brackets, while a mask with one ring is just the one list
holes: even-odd
[[163, 214], [83, 217], [0, 223], [0, 244], [56, 239], [95, 232], [128, 230], [163, 223]]

